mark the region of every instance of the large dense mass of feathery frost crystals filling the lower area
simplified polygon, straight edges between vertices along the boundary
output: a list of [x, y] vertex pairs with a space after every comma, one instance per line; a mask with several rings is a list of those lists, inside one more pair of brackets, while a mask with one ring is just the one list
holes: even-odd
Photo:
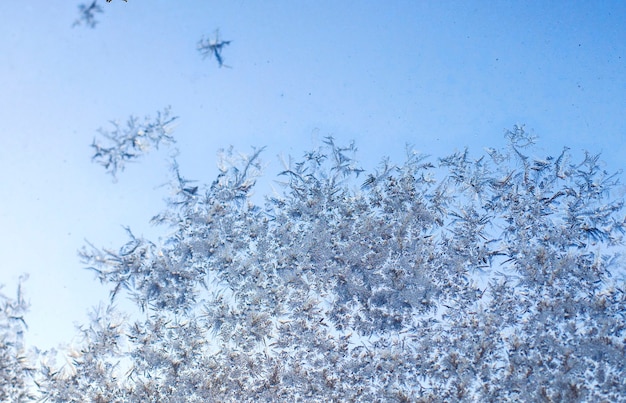
[[[362, 174], [328, 138], [254, 205], [259, 155], [154, 218], [169, 236], [85, 263], [143, 309], [102, 308], [48, 401], [625, 401], [622, 201], [587, 154], [409, 151]], [[4, 361], [3, 361], [4, 362]], [[13, 367], [11, 367], [13, 368]], [[67, 367], [66, 367], [67, 368]], [[6, 389], [6, 387], [5, 387]]]

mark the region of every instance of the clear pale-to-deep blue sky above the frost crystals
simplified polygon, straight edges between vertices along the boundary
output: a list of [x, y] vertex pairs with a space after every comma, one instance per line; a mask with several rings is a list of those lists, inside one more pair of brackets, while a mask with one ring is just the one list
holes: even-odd
[[[433, 157], [502, 146], [514, 124], [546, 154], [624, 165], [624, 2], [98, 0], [95, 29], [72, 28], [80, 0], [63, 3], [0, 3], [0, 283], [14, 295], [30, 273], [27, 337], [44, 348], [107, 298], [77, 258], [85, 239], [163, 234], [148, 220], [167, 152], [112, 183], [89, 148], [111, 119], [171, 105], [181, 171], [205, 182], [229, 145], [267, 146], [271, 179], [276, 155], [326, 135], [355, 140], [371, 170], [406, 143]], [[196, 50], [218, 28], [232, 68]]]

